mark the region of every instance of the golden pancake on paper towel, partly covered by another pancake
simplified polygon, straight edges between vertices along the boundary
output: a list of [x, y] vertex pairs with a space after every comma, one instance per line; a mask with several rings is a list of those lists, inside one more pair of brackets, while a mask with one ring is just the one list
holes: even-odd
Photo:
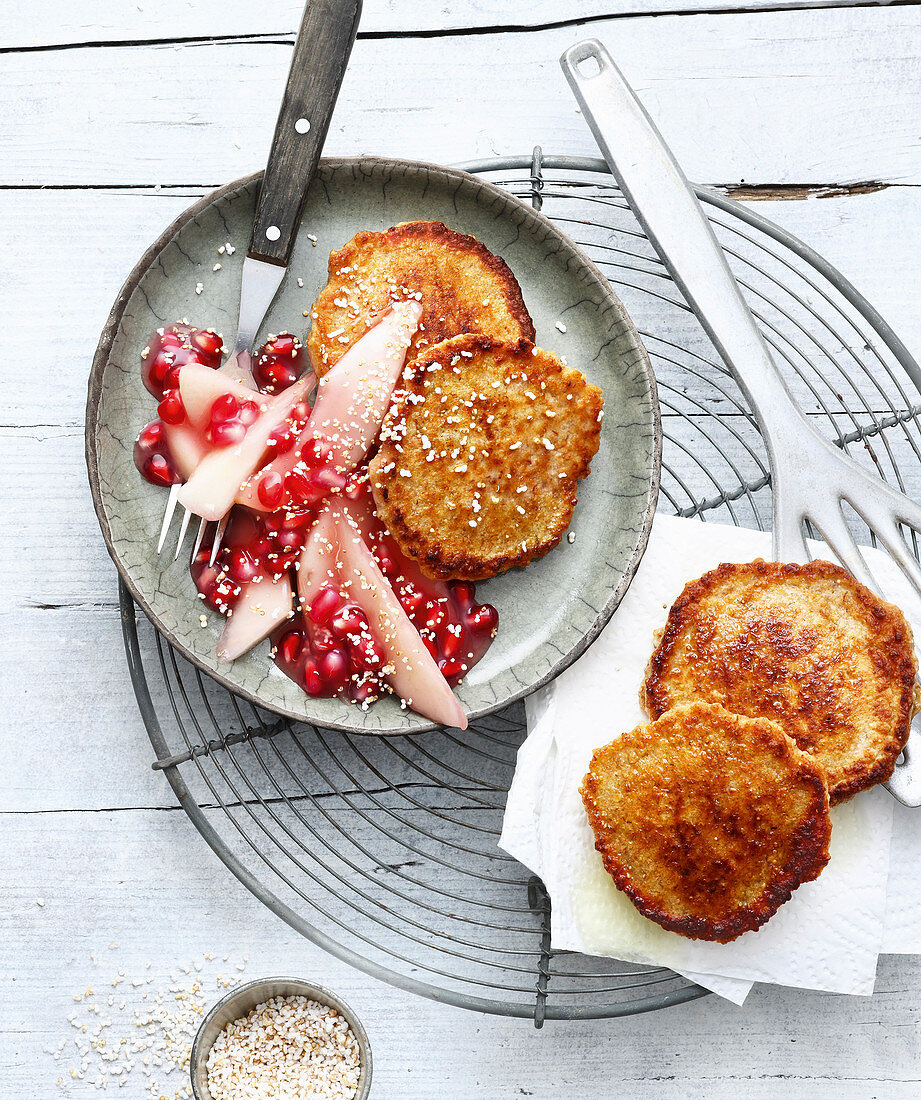
[[653, 718], [699, 700], [774, 719], [824, 768], [834, 805], [892, 774], [915, 673], [902, 613], [840, 565], [723, 564], [672, 606], [644, 703]]

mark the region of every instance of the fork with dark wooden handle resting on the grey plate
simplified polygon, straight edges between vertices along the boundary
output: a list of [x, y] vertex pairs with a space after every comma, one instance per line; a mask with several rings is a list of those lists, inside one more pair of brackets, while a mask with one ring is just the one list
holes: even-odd
[[[256, 332], [284, 278], [307, 188], [317, 170], [352, 52], [361, 3], [362, 0], [308, 0], [304, 9], [243, 261], [237, 342], [221, 367], [224, 372], [238, 367], [243, 373], [249, 371]], [[179, 488], [174, 485], [169, 490], [157, 553], [166, 543]], [[173, 561], [179, 557], [189, 526], [190, 513], [185, 508], [183, 513]], [[201, 546], [206, 526], [204, 519], [198, 525], [193, 558]], [[218, 556], [226, 527], [227, 516], [219, 521], [211, 542], [210, 564]]]

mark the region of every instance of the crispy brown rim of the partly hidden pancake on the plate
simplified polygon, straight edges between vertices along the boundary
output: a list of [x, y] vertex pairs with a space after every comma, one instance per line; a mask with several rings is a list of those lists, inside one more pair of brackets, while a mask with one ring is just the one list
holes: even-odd
[[[482, 241], [478, 241], [475, 237], [470, 233], [459, 233], [456, 229], [450, 229], [441, 221], [403, 221], [397, 226], [391, 226], [390, 229], [383, 231], [362, 229], [351, 239], [342, 245], [341, 249], [337, 249], [335, 252], [329, 254], [329, 265], [327, 266], [327, 284], [317, 295], [314, 305], [310, 307], [310, 314], [319, 312], [318, 307], [320, 306], [324, 295], [332, 294], [333, 290], [330, 288], [330, 280], [336, 274], [335, 267], [339, 267], [343, 264], [348, 264], [349, 256], [364, 248], [373, 238], [386, 238], [386, 244], [399, 241], [402, 238], [418, 238], [428, 240], [439, 240], [448, 249], [456, 249], [459, 252], [470, 252], [479, 255], [480, 260], [483, 262], [483, 266], [492, 271], [497, 278], [503, 284], [505, 290], [505, 300], [508, 306], [508, 312], [514, 321], [518, 324], [522, 330], [520, 338], [523, 340], [529, 340], [531, 343], [536, 338], [536, 332], [534, 329], [534, 321], [528, 312], [527, 306], [525, 305], [524, 296], [522, 295], [522, 288], [518, 285], [517, 278], [508, 264], [502, 258], [502, 256], [495, 255], [495, 253], [490, 252]], [[351, 265], [349, 265], [351, 266]], [[336, 294], [340, 290], [336, 290]], [[425, 306], [425, 304], [423, 304]], [[462, 336], [458, 332], [454, 336]], [[446, 337], [446, 340], [451, 339]], [[311, 318], [310, 332], [307, 337], [307, 354], [310, 359], [310, 363], [317, 377], [322, 377], [322, 375], [330, 370], [333, 365], [330, 363], [327, 365], [322, 362], [322, 356], [320, 355], [320, 337], [317, 332], [317, 320]], [[434, 345], [432, 345], [434, 346]], [[343, 348], [340, 355], [341, 358], [344, 352], [348, 351]]]

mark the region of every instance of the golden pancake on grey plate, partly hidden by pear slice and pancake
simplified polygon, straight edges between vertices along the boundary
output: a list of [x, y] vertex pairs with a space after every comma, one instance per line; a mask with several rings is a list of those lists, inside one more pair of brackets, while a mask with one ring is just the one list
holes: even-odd
[[522, 289], [504, 260], [440, 221], [408, 221], [357, 233], [329, 256], [329, 282], [314, 304], [307, 340], [318, 377], [391, 301], [415, 297], [423, 317], [408, 358], [461, 332], [512, 343], [534, 340]]

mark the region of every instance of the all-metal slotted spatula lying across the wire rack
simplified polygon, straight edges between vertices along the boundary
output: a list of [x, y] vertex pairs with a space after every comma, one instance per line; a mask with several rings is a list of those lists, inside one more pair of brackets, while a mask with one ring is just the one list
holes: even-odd
[[[921, 566], [900, 525], [921, 531], [921, 507], [868, 474], [821, 436], [797, 404], [742, 297], [684, 174], [623, 74], [596, 40], [560, 58], [585, 121], [646, 235], [732, 371], [755, 414], [770, 462], [774, 557], [808, 562], [812, 525], [856, 580], [879, 592], [847, 527], [844, 503], [874, 532], [921, 596]], [[921, 805], [921, 745], [912, 728], [886, 784]]]

